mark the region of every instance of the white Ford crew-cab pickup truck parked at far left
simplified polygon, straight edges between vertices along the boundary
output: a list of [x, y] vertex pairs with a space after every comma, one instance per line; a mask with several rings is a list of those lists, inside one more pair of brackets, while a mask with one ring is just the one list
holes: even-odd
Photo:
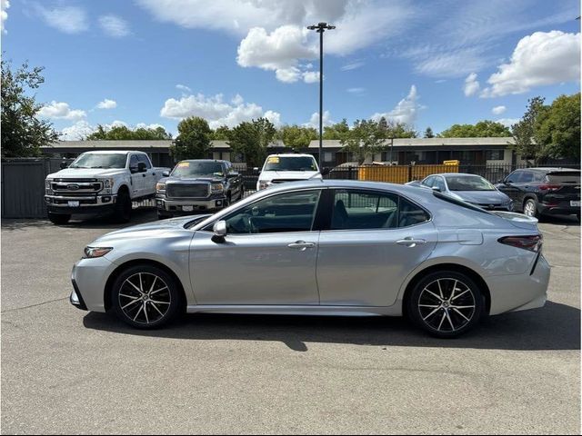
[[95, 151], [45, 180], [48, 219], [65, 224], [73, 213], [113, 213], [131, 219], [132, 202], [154, 198], [156, 183], [169, 168], [154, 168], [143, 152]]

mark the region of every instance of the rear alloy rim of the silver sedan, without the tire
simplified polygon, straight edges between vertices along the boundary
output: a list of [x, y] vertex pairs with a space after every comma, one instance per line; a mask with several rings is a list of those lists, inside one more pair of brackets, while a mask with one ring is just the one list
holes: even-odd
[[471, 288], [453, 278], [430, 282], [420, 292], [418, 312], [435, 332], [451, 333], [463, 329], [476, 314], [477, 302]]

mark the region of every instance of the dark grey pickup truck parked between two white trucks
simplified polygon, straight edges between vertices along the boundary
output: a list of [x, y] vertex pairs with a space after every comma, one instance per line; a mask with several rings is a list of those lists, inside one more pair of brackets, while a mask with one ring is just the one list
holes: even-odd
[[217, 211], [244, 195], [243, 178], [228, 161], [182, 161], [164, 176], [156, 185], [159, 219], [195, 211]]

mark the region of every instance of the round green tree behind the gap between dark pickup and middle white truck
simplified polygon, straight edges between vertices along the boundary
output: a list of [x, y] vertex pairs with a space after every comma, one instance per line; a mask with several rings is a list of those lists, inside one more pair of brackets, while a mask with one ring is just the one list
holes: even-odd
[[249, 166], [263, 164], [267, 147], [276, 135], [275, 126], [266, 118], [238, 124], [231, 130], [228, 145], [236, 154], [242, 154]]

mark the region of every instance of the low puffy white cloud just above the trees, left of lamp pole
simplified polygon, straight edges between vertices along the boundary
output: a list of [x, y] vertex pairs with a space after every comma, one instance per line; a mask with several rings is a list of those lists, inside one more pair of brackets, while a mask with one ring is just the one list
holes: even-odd
[[166, 118], [182, 119], [188, 116], [200, 116], [205, 118], [213, 129], [221, 125], [234, 127], [243, 121], [260, 118], [266, 114], [272, 120], [280, 122], [280, 114], [273, 111], [264, 112], [258, 104], [245, 103], [243, 97], [238, 94], [230, 103], [224, 101], [223, 94], [209, 97], [204, 94], [184, 95], [179, 100], [169, 98], [160, 111], [160, 115]]

